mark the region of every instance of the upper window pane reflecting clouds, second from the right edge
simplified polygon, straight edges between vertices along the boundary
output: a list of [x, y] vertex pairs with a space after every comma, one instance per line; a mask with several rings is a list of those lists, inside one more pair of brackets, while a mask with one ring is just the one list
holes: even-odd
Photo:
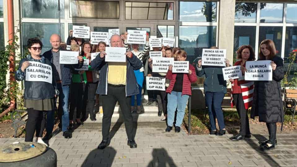
[[282, 23], [283, 3], [261, 3], [260, 23]]

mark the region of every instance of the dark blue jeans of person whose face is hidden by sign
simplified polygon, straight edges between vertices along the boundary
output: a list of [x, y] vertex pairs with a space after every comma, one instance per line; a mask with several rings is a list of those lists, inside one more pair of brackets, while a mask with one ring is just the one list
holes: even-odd
[[215, 131], [215, 118], [218, 119], [219, 129], [225, 128], [224, 115], [221, 107], [224, 99], [224, 92], [205, 92], [205, 100], [208, 106], [209, 121], [211, 124], [211, 130]]

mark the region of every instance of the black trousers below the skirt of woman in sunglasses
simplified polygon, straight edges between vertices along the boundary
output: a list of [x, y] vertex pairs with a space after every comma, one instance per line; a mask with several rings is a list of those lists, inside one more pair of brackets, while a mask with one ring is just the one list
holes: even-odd
[[36, 131], [36, 137], [42, 137], [45, 122], [46, 122], [46, 111], [39, 111], [33, 108], [27, 109], [28, 111], [28, 120], [26, 123], [26, 135], [25, 135], [25, 142], [32, 142], [34, 133]]

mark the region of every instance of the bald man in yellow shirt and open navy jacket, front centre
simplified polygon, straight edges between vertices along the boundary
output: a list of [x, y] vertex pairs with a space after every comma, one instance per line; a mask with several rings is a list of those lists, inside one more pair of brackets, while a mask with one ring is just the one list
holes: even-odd
[[[119, 35], [113, 35], [110, 38], [111, 47], [124, 47], [123, 41]], [[134, 70], [142, 67], [139, 58], [126, 52], [126, 62], [105, 62], [105, 52], [101, 52], [92, 62], [91, 68], [100, 71], [100, 80], [97, 88], [97, 94], [102, 95], [103, 118], [102, 118], [102, 141], [99, 149], [104, 149], [109, 145], [109, 129], [113, 110], [118, 101], [124, 116], [127, 144], [130, 148], [136, 148], [137, 144], [133, 134], [133, 119], [130, 112], [131, 96], [139, 93], [138, 85], [134, 75]]]

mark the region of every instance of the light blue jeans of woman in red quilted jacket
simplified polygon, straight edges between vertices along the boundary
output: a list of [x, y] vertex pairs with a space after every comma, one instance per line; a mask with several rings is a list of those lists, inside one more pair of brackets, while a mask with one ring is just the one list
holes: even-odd
[[167, 94], [167, 124], [173, 126], [174, 114], [176, 113], [175, 126], [180, 126], [184, 119], [184, 110], [186, 109], [189, 95], [181, 95], [182, 92], [174, 92]]

